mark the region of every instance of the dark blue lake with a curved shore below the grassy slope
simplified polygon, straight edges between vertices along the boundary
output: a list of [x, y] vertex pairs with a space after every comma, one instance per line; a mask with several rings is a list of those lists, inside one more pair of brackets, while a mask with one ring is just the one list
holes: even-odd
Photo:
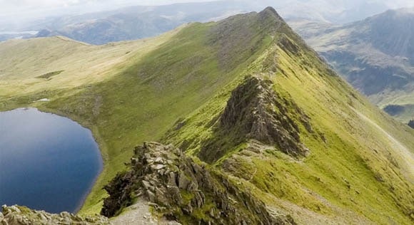
[[36, 109], [0, 112], [0, 205], [75, 212], [102, 169], [90, 130]]

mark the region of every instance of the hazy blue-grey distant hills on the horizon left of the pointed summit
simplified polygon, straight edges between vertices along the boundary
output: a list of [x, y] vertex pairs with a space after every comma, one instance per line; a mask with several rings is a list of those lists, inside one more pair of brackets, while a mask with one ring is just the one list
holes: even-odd
[[217, 21], [248, 11], [246, 4], [227, 1], [131, 6], [80, 16], [64, 16], [42, 24], [36, 37], [67, 36], [77, 41], [104, 44], [157, 36], [183, 23]]

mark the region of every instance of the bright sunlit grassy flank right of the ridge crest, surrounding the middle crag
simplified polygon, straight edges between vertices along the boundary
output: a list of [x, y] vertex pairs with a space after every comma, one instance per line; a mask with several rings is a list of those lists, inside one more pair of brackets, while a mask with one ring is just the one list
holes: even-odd
[[[281, 38], [276, 36], [273, 48], [252, 63], [238, 80], [183, 120], [185, 125], [181, 129], [171, 130], [164, 141], [187, 147], [190, 154], [198, 152], [201, 142], [213, 135], [211, 125], [243, 75], [262, 73], [274, 80], [276, 92], [294, 100], [310, 116], [316, 132], [308, 133], [301, 127], [310, 156], [297, 162], [271, 150], [255, 155], [243, 151], [245, 144], [229, 150], [216, 167], [221, 168], [231, 159], [238, 168], [232, 174], [249, 177], [241, 179], [246, 187], [269, 205], [290, 211], [305, 224], [309, 218], [303, 219], [303, 215], [316, 218], [315, 223], [359, 224], [368, 219], [379, 224], [410, 224], [413, 217], [408, 214], [412, 213], [414, 201], [413, 130], [370, 105], [288, 28], [285, 32], [303, 51], [286, 51], [286, 46], [276, 45]], [[276, 74], [268, 70], [269, 58], [277, 61]], [[410, 152], [400, 153], [400, 146], [392, 138], [357, 112], [390, 133]], [[232, 155], [237, 152], [240, 154]], [[297, 206], [302, 208], [298, 210]]]

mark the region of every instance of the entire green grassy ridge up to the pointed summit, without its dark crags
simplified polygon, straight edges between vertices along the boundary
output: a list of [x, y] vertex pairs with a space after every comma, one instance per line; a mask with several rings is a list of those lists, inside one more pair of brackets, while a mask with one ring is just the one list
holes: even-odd
[[[68, 61], [62, 67], [50, 61], [39, 73], [0, 80], [1, 110], [35, 106], [69, 116], [94, 132], [105, 168], [81, 213], [99, 212], [106, 196], [101, 187], [124, 169], [135, 145], [161, 140], [196, 155], [201, 142], [214, 134], [231, 91], [255, 74], [272, 80], [278, 95], [310, 117], [313, 132], [299, 126], [310, 155], [295, 159], [272, 146], [254, 153], [246, 150], [251, 145], [246, 140], [226, 150], [213, 167], [303, 224], [413, 220], [413, 130], [355, 93], [273, 11], [193, 23], [147, 41], [151, 44], [114, 44], [114, 49], [125, 48], [113, 55], [121, 62], [104, 70], [104, 79], [94, 78], [92, 64], [79, 68]], [[92, 47], [109, 48], [82, 48]], [[124, 56], [126, 50], [130, 56]], [[85, 52], [74, 58], [88, 61]], [[19, 89], [20, 80], [59, 70], [64, 72], [51, 80], [27, 81]], [[76, 80], [70, 70], [84, 76], [64, 85], [66, 79]], [[33, 103], [41, 98], [51, 101]]]

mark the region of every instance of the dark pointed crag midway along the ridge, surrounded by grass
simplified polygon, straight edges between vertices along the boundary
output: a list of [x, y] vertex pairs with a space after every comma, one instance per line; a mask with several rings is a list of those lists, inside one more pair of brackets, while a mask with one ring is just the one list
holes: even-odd
[[214, 162], [232, 149], [226, 143], [237, 146], [250, 139], [276, 145], [293, 157], [304, 156], [308, 149], [301, 142], [298, 122], [312, 132], [308, 116], [295, 103], [279, 96], [271, 80], [247, 76], [231, 93], [215, 135], [203, 143], [198, 157]]

